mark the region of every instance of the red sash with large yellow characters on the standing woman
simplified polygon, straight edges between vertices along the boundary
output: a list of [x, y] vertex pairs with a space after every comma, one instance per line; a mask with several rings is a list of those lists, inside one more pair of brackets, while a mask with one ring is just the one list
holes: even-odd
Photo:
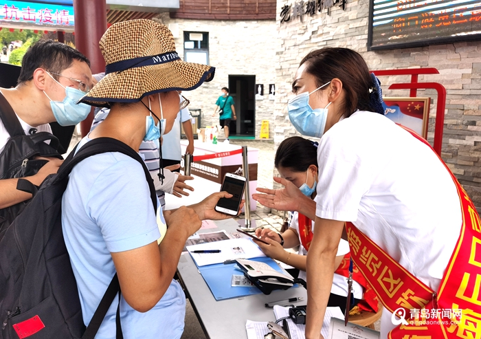
[[[431, 147], [414, 131], [406, 130]], [[389, 339], [481, 339], [481, 219], [456, 177], [451, 171], [449, 174], [460, 197], [462, 227], [439, 285], [437, 300], [432, 289], [353, 223], [346, 223], [350, 253], [359, 271], [384, 307], [393, 314], [404, 314], [407, 320], [401, 322], [393, 316], [394, 325], [399, 325], [390, 331]]]

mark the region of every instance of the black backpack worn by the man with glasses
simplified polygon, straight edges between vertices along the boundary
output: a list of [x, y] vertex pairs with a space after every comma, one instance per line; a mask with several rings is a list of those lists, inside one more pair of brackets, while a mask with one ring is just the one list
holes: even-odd
[[[10, 134], [10, 139], [0, 153], [0, 180], [36, 174], [47, 163], [47, 160], [35, 160], [34, 157], [36, 156], [63, 159], [62, 155], [58, 153], [60, 144], [53, 134], [38, 132], [25, 135], [12, 107], [1, 94], [0, 119]], [[50, 140], [50, 144], [46, 144], [46, 140]], [[21, 186], [18, 188], [29, 192], [31, 190]], [[21, 213], [30, 200], [19, 202], [19, 204], [7, 208], [0, 208], [0, 239], [5, 228]]]

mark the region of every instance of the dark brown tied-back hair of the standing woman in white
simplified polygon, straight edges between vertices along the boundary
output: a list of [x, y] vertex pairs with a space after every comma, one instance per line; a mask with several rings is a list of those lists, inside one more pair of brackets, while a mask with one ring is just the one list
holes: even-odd
[[[373, 111], [369, 89], [374, 86], [368, 65], [362, 56], [348, 48], [324, 47], [304, 56], [300, 65], [306, 63], [306, 72], [315, 76], [317, 86], [338, 78], [346, 91], [346, 98], [340, 108], [346, 118], [357, 109]], [[323, 89], [320, 89], [321, 91]]]

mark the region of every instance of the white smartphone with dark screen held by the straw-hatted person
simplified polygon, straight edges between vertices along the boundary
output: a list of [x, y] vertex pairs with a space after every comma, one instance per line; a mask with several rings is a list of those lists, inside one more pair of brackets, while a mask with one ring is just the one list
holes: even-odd
[[232, 198], [221, 198], [217, 202], [215, 210], [226, 215], [238, 215], [240, 201], [244, 195], [245, 177], [227, 173], [222, 183], [221, 191], [233, 195]]

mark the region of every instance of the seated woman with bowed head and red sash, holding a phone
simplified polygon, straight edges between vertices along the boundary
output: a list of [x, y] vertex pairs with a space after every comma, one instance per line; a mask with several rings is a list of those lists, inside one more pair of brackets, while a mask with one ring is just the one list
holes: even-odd
[[[317, 142], [295, 136], [287, 138], [279, 145], [274, 159], [280, 177], [292, 182], [302, 194], [311, 199], [315, 198], [315, 188], [317, 186]], [[265, 239], [270, 245], [256, 242], [262, 252], [272, 259], [282, 261], [299, 270], [299, 278], [306, 280], [306, 258], [307, 251], [311, 245], [313, 238], [313, 221], [306, 216], [293, 212], [291, 214], [291, 223], [289, 228], [279, 234], [270, 229], [256, 230], [256, 235]], [[294, 248], [299, 246], [298, 254], [288, 252], [284, 248]], [[347, 277], [349, 275], [349, 244], [341, 239], [335, 267], [333, 285], [331, 287], [331, 295], [329, 296], [328, 306], [339, 306], [344, 313], [346, 309], [346, 298], [348, 295]], [[364, 292], [364, 300], [363, 298]], [[355, 310], [363, 309], [366, 311], [377, 311], [378, 303], [376, 296], [362, 274], [353, 267], [353, 294], [355, 303], [354, 307], [359, 303]]]

